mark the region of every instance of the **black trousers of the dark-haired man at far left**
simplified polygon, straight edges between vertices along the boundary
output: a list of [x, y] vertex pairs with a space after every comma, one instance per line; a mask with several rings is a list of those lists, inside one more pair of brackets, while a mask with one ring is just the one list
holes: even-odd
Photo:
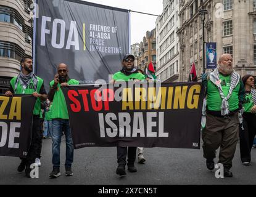
[[[42, 148], [42, 133], [40, 127], [39, 116], [33, 116], [33, 125], [32, 125], [32, 138], [30, 148], [28, 150], [28, 155], [26, 158], [22, 159], [22, 163], [25, 163], [27, 167], [30, 167], [31, 164], [35, 163], [35, 159], [38, 157], [38, 153]], [[40, 155], [39, 153], [39, 155]]]

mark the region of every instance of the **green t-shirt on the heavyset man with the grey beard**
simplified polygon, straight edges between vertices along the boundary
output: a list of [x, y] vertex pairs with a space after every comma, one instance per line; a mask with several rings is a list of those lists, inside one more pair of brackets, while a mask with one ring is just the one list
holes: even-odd
[[[230, 79], [231, 76], [223, 76], [220, 74], [220, 79], [221, 79], [221, 87], [223, 90], [223, 94], [225, 97], [228, 95], [229, 87], [230, 87]], [[237, 84], [237, 86], [234, 88], [231, 97], [228, 99], [228, 104], [229, 104], [229, 111], [234, 111], [237, 110], [238, 108], [238, 103], [239, 103], [239, 89], [241, 86], [241, 82]], [[220, 97], [220, 92], [213, 84], [212, 81], [208, 80], [207, 81], [207, 108], [208, 110], [211, 111], [220, 111], [221, 110], [221, 102], [222, 99]]]

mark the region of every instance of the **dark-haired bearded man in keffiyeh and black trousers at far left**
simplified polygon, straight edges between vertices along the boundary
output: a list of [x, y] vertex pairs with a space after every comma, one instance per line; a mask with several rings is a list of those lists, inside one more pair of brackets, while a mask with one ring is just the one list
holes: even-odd
[[47, 98], [46, 90], [44, 89], [44, 81], [39, 78], [33, 71], [33, 62], [30, 57], [23, 57], [20, 61], [22, 68], [19, 76], [10, 79], [10, 89], [6, 92], [6, 96], [11, 97], [13, 94], [32, 94], [37, 98], [33, 111], [32, 139], [26, 158], [22, 159], [18, 167], [18, 172], [25, 169], [25, 175], [30, 178], [30, 165], [35, 163], [38, 151], [42, 147], [42, 133], [40, 129], [41, 102]]

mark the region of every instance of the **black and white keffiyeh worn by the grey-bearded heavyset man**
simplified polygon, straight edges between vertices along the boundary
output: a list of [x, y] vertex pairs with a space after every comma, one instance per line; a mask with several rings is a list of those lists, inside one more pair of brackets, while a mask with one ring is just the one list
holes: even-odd
[[228, 99], [231, 97], [231, 94], [234, 90], [234, 88], [237, 86], [239, 83], [240, 75], [236, 72], [233, 71], [231, 74], [231, 82], [230, 82], [230, 87], [228, 91], [228, 95], [225, 97], [223, 94], [223, 90], [221, 87], [221, 80], [220, 80], [220, 73], [218, 71], [218, 68], [215, 68], [212, 73], [210, 73], [210, 81], [213, 82], [218, 87], [218, 90], [220, 92], [220, 97], [222, 98], [222, 103], [221, 103], [221, 116], [225, 116], [229, 114], [229, 105], [228, 105]]

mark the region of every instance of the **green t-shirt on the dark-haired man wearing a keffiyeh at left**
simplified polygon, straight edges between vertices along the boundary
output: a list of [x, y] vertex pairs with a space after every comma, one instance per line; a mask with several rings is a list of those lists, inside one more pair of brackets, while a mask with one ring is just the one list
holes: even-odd
[[[43, 79], [39, 78], [36, 76], [38, 79], [38, 84], [37, 88], [35, 90], [35, 86], [33, 84], [33, 80], [30, 80], [30, 84], [26, 89], [23, 89], [23, 87], [20, 85], [20, 81], [18, 82], [17, 89], [15, 89], [15, 82], [17, 80], [17, 76], [10, 79], [10, 85], [12, 86], [12, 89], [14, 89], [14, 94], [33, 94], [34, 92], [40, 92], [41, 87], [43, 86]], [[41, 116], [42, 111], [41, 111], [41, 100], [40, 98], [36, 99], [33, 115], [40, 115]]]

